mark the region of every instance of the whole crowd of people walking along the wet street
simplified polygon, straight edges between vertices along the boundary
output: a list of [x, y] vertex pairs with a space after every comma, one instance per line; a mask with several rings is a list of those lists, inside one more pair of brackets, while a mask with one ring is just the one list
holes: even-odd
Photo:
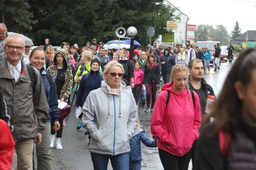
[[[158, 147], [164, 169], [187, 169], [190, 159], [199, 170], [255, 168], [255, 49], [239, 54], [218, 99], [207, 104], [208, 96], [215, 96], [203, 79], [211, 57], [207, 48], [177, 45], [161, 51], [153, 43], [129, 54], [105, 49], [94, 38], [81, 52], [67, 42], [54, 52], [49, 38], [31, 48], [31, 41], [9, 36], [2, 23], [0, 31], [0, 169], [11, 169], [14, 147], [17, 169], [33, 169], [34, 142], [37, 169], [52, 169], [51, 148], [55, 142], [62, 149], [65, 126], [58, 100], [70, 104], [72, 89], [75, 107], [82, 107], [76, 129], [86, 128], [95, 170], [106, 169], [109, 159], [114, 170], [141, 169], [141, 141]], [[161, 77], [165, 85], [156, 98]], [[154, 140], [141, 128], [140, 103], [152, 112]]]

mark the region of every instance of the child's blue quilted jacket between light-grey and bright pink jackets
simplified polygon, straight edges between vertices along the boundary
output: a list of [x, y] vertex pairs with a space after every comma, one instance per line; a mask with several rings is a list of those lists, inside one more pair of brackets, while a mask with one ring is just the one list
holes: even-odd
[[146, 147], [156, 148], [153, 144], [153, 140], [147, 138], [144, 134], [144, 130], [136, 129], [135, 133], [132, 135], [132, 138], [129, 140], [131, 151], [129, 152], [129, 160], [131, 162], [141, 160], [141, 146], [140, 141], [144, 143]]

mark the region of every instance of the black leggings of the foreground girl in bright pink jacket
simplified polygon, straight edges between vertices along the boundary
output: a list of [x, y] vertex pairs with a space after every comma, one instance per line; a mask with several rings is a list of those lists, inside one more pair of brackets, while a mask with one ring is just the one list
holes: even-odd
[[189, 161], [189, 152], [183, 156], [175, 156], [164, 150], [158, 149], [161, 163], [165, 170], [185, 170]]

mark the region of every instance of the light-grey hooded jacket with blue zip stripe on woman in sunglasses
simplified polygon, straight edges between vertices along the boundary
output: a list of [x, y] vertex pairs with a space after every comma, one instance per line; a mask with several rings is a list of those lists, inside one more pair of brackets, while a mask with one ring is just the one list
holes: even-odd
[[110, 95], [103, 80], [101, 87], [86, 98], [82, 121], [91, 135], [90, 152], [118, 155], [130, 151], [129, 139], [137, 126], [138, 109], [132, 92], [125, 89], [123, 81], [121, 83], [120, 96]]

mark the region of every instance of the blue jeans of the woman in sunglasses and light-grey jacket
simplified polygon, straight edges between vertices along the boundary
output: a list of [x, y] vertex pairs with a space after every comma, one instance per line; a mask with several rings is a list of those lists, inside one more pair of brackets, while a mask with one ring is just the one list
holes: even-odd
[[109, 159], [113, 170], [129, 169], [129, 152], [115, 156], [91, 152], [91, 160], [93, 160], [94, 170], [107, 170]]

